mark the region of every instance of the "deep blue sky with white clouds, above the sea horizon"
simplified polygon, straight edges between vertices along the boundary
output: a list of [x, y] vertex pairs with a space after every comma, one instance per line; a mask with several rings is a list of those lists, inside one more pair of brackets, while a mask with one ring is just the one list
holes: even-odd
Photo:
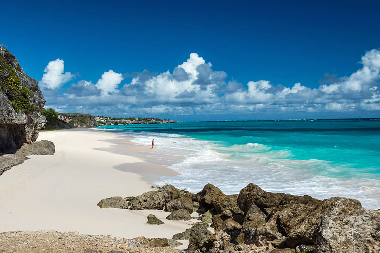
[[1, 0], [45, 108], [111, 117], [380, 117], [379, 1]]

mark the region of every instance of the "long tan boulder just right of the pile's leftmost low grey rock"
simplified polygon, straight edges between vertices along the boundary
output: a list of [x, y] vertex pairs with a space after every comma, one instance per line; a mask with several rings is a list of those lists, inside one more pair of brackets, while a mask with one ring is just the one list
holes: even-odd
[[137, 196], [129, 202], [131, 209], [160, 209], [162, 210], [166, 203], [180, 197], [180, 192], [172, 185], [165, 185], [157, 191], [150, 191]]

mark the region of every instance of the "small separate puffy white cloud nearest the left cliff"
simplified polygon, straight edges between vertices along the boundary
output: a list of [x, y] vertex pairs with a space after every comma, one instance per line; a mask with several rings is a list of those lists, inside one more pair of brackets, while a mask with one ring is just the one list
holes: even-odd
[[49, 89], [57, 89], [74, 77], [70, 72], [63, 73], [64, 61], [61, 59], [49, 62], [44, 72], [39, 84]]

